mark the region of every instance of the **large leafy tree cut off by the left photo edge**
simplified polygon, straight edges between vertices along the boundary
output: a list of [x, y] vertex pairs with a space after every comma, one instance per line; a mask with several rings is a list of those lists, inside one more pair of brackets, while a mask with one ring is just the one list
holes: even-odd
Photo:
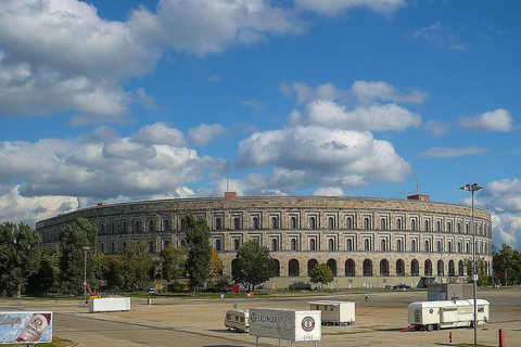
[[0, 224], [0, 294], [20, 296], [40, 267], [41, 236], [28, 224]]

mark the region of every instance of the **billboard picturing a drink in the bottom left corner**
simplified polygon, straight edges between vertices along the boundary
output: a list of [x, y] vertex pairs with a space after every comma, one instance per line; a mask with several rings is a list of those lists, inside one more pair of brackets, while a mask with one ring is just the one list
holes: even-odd
[[52, 311], [1, 311], [0, 345], [52, 342]]

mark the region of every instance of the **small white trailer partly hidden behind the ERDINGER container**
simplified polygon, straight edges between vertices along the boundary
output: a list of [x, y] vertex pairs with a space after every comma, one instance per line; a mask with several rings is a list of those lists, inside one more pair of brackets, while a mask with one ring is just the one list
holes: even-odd
[[312, 310], [322, 312], [322, 325], [354, 325], [355, 324], [355, 303], [316, 300], [307, 301]]

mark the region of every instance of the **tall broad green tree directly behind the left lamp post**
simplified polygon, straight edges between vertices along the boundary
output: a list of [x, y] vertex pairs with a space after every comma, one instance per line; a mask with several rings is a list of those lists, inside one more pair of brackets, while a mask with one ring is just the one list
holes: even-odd
[[[65, 226], [60, 231], [60, 290], [65, 294], [79, 295], [84, 292], [85, 265], [87, 264], [87, 283], [98, 285], [98, 230], [85, 218], [78, 218], [74, 223]], [[85, 261], [85, 247], [87, 262]]]

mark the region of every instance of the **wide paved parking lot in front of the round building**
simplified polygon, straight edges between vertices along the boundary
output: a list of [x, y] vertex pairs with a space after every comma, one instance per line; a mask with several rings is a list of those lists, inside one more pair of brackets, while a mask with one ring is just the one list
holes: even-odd
[[[364, 304], [368, 295], [369, 303]], [[491, 303], [491, 322], [478, 330], [480, 344], [498, 345], [498, 329], [506, 332], [507, 346], [521, 340], [521, 292], [511, 290], [479, 291], [479, 298]], [[0, 309], [40, 309], [55, 312], [54, 336], [69, 338], [78, 346], [254, 346], [249, 334], [229, 332], [224, 327], [226, 310], [239, 308], [293, 308], [309, 309], [306, 304], [315, 299], [335, 299], [356, 303], [354, 326], [323, 326], [319, 346], [440, 346], [449, 345], [448, 330], [405, 332], [407, 305], [427, 299], [427, 292], [340, 292], [306, 294], [304, 296], [278, 295], [253, 298], [237, 295], [227, 298], [132, 298], [131, 311], [88, 313], [77, 300], [0, 300]], [[472, 329], [454, 329], [453, 345], [472, 343]], [[262, 338], [262, 346], [278, 346], [278, 340]], [[295, 346], [313, 345], [296, 343]]]

